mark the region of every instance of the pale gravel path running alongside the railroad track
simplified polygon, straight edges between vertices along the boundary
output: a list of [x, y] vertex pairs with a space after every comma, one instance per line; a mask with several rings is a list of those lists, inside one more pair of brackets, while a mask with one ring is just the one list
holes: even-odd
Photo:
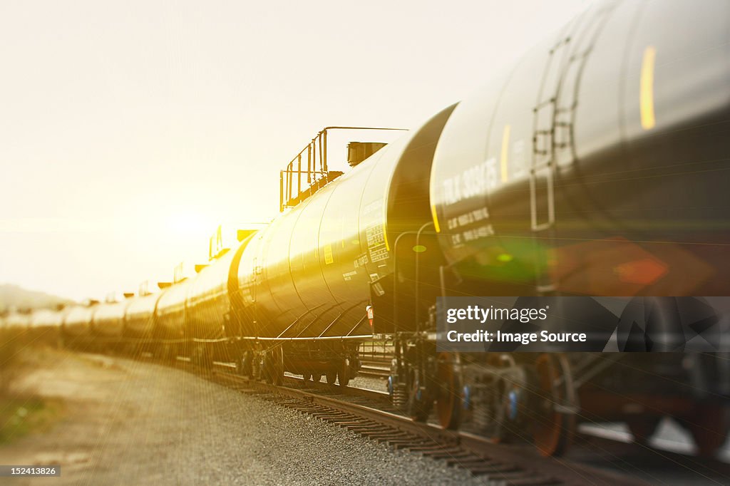
[[483, 484], [185, 371], [50, 354], [53, 366], [23, 386], [63, 397], [67, 416], [41, 436], [0, 448], [0, 463], [61, 463], [62, 476], [6, 484]]

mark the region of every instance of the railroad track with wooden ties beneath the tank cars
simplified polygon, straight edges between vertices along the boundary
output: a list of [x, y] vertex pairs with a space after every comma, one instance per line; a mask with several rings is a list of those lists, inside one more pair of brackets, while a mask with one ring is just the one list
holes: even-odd
[[[159, 361], [151, 356], [142, 358]], [[189, 359], [177, 358], [172, 365], [239, 392], [347, 428], [394, 450], [408, 450], [434, 460], [443, 460], [447, 466], [464, 468], [475, 476], [484, 477], [489, 485], [646, 485], [650, 483], [629, 474], [642, 474], [651, 483], [664, 482], [662, 478], [667, 480], [674, 477], [671, 472], [664, 471], [666, 467], [676, 468], [677, 474], [694, 471], [699, 477], [709, 479], [707, 484], [723, 484], [713, 478], [726, 479], [730, 475], [727, 464], [715, 461], [701, 466], [696, 458], [666, 452], [658, 454], [666, 460], [664, 466], [660, 466], [663, 474], [654, 475], [648, 471], [644, 474], [641, 463], [656, 461], [657, 454], [644, 447], [644, 459], [637, 457], [637, 463], [626, 463], [626, 460], [618, 459], [621, 452], [616, 448], [627, 444], [612, 439], [598, 439], [597, 448], [600, 455], [607, 454], [623, 461], [623, 467], [591, 466], [589, 463], [595, 461], [590, 457], [590, 450], [596, 449], [596, 437], [585, 435], [577, 437], [577, 442], [583, 444], [580, 450], [585, 450], [587, 456], [577, 454], [569, 460], [543, 458], [529, 444], [496, 444], [473, 433], [445, 431], [434, 424], [414, 422], [392, 406], [385, 392], [332, 386], [325, 382], [305, 382], [304, 379], [289, 375], [284, 377], [282, 386], [269, 385], [239, 376], [233, 363], [216, 362], [210, 368], [201, 369]], [[675, 484], [685, 484], [681, 475], [675, 479]], [[688, 477], [688, 480], [694, 479], [697, 479], [696, 475]]]

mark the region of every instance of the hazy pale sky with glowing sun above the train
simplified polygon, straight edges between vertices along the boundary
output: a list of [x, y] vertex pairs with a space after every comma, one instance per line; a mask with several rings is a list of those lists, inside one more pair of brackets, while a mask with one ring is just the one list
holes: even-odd
[[2, 1], [0, 283], [169, 280], [323, 126], [413, 128], [586, 4]]

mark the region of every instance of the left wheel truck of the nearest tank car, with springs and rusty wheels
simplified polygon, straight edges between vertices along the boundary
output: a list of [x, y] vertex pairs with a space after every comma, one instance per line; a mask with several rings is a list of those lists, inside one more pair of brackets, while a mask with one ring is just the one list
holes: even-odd
[[542, 353], [522, 361], [493, 355], [470, 366], [459, 353], [439, 352], [432, 366], [403, 367], [407, 385], [391, 376], [393, 405], [413, 420], [428, 420], [434, 409], [442, 428], [469, 423], [494, 442], [531, 436], [545, 456], [564, 452], [575, 433], [577, 394], [565, 355]]

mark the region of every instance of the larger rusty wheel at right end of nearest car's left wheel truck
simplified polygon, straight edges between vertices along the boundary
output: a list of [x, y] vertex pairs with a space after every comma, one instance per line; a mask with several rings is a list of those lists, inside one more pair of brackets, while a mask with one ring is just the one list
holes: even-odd
[[575, 389], [570, 365], [564, 355], [542, 354], [535, 362], [537, 371], [536, 417], [533, 424], [535, 447], [546, 457], [566, 450], [575, 430]]

